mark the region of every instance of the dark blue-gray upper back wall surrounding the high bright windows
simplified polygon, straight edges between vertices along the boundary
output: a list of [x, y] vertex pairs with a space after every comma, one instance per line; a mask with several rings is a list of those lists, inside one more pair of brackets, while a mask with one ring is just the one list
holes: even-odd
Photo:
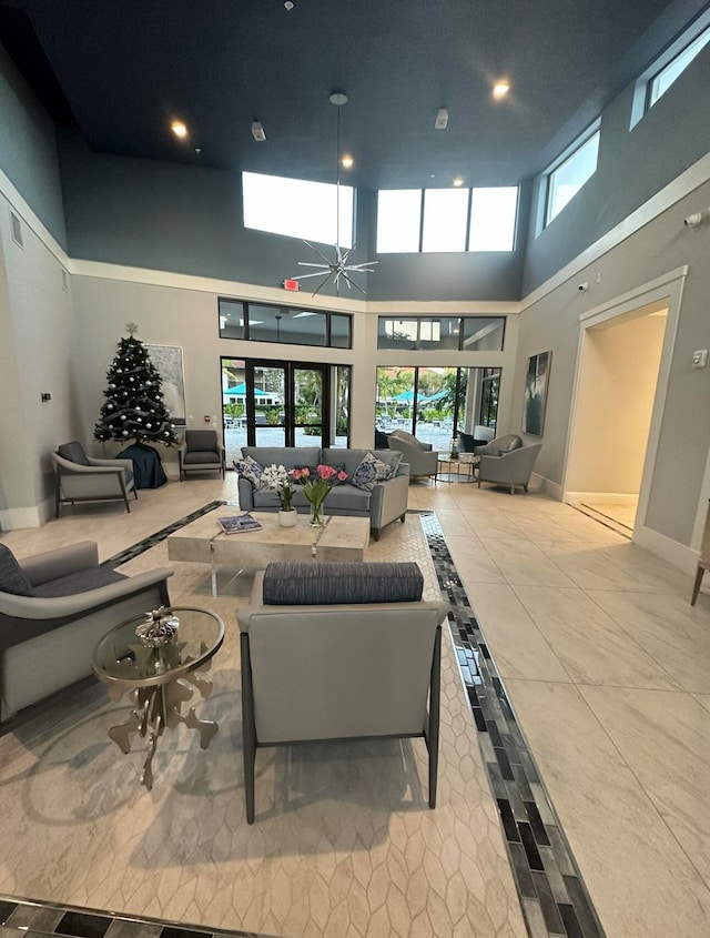
[[[60, 161], [72, 258], [263, 286], [306, 273], [298, 261], [318, 260], [298, 240], [244, 229], [241, 179], [234, 173], [99, 155], [73, 131], [60, 134]], [[368, 250], [375, 244], [375, 210], [376, 193], [359, 192], [349, 260], [379, 261], [371, 276], [355, 278], [369, 299], [495, 301], [520, 295], [525, 202], [519, 243], [506, 254], [377, 256]], [[326, 256], [332, 253], [322, 250]], [[314, 282], [320, 281], [303, 284], [304, 294], [313, 292]], [[321, 291], [334, 293], [329, 284]], [[342, 288], [341, 295], [346, 293]]]

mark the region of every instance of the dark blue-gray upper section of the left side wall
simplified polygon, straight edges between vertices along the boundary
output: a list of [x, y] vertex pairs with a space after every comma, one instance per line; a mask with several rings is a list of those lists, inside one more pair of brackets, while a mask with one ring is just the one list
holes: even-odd
[[0, 44], [0, 169], [67, 246], [54, 124]]

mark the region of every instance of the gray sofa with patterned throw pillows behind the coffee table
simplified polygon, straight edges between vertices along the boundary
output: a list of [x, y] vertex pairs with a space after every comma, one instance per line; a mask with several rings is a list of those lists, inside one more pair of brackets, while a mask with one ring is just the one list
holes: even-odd
[[[378, 460], [395, 468], [395, 475], [386, 482], [378, 482], [372, 492], [356, 488], [349, 483], [335, 485], [323, 503], [326, 515], [354, 515], [369, 517], [375, 539], [390, 522], [404, 522], [407, 513], [409, 466], [402, 462], [402, 454], [392, 450], [321, 450], [317, 446], [242, 446], [243, 456], [251, 456], [261, 466], [282, 465], [286, 470], [297, 466], [313, 468], [320, 464], [343, 466], [348, 477], [353, 475], [366, 453], [374, 453]], [[242, 511], [277, 512], [278, 496], [271, 488], [255, 488], [243, 476], [239, 480], [239, 497]], [[308, 512], [311, 506], [298, 485], [295, 486], [294, 507]]]

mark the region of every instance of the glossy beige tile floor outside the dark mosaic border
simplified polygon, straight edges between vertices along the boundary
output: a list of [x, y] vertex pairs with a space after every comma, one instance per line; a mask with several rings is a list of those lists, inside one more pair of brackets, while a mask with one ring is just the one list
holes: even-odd
[[[233, 476], [225, 483], [171, 483], [141, 492], [130, 515], [79, 507], [40, 529], [3, 534], [2, 541], [22, 556], [91, 537], [108, 557], [213, 498], [234, 497], [235, 488]], [[707, 938], [708, 593], [691, 607], [690, 577], [532, 492], [510, 496], [468, 483], [415, 483], [409, 504], [437, 514], [607, 936]], [[13, 808], [23, 811], [27, 805], [20, 799]], [[484, 811], [479, 821], [485, 818]], [[11, 879], [11, 865], [22, 864], [21, 844], [14, 847], [2, 850], [3, 882]], [[500, 856], [497, 845], [486, 841], [486, 849]], [[460, 859], [474, 874], [470, 858]], [[110, 856], [104, 866], [110, 869]], [[410, 881], [420, 875], [408, 874]], [[41, 881], [41, 870], [34, 876]], [[496, 889], [503, 879], [491, 876]], [[173, 864], [168, 880], [161, 885], [151, 877], [150, 888], [174, 901], [179, 880]], [[460, 879], [452, 881], [458, 889]], [[219, 869], [215, 882], [224, 888]], [[123, 897], [124, 904], [130, 899]], [[217, 896], [200, 901], [207, 918], [220, 908]], [[174, 901], [176, 911], [180, 906]], [[305, 934], [302, 922], [293, 925], [281, 934]], [[349, 934], [342, 919], [333, 928], [331, 934]], [[447, 932], [430, 924], [424, 934]], [[519, 919], [489, 919], [474, 934], [518, 935]]]

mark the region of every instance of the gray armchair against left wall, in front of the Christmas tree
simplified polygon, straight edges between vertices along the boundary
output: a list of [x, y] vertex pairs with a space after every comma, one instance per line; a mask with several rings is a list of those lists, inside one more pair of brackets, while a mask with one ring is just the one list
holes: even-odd
[[55, 514], [69, 502], [123, 502], [126, 512], [129, 492], [138, 498], [131, 460], [95, 460], [87, 456], [77, 441], [63, 443], [52, 453], [57, 475]]

